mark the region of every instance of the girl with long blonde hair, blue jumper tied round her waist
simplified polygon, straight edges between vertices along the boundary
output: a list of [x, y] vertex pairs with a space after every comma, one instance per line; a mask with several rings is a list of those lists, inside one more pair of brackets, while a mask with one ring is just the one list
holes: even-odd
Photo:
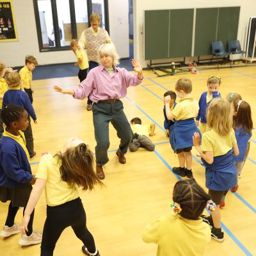
[[232, 129], [232, 111], [230, 103], [225, 99], [213, 99], [207, 111], [209, 129], [202, 136], [195, 132], [193, 143], [205, 165], [205, 186], [209, 189], [212, 201], [217, 205], [204, 221], [212, 227], [211, 236], [218, 242], [224, 241], [221, 231], [220, 202], [222, 196], [237, 184], [236, 164], [233, 155], [239, 150], [234, 129]]

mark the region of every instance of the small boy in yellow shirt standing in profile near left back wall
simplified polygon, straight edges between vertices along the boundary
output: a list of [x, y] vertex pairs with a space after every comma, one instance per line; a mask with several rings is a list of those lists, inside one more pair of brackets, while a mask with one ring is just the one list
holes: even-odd
[[33, 103], [33, 93], [32, 88], [32, 71], [38, 65], [37, 60], [34, 56], [27, 55], [25, 58], [25, 67], [20, 69], [20, 77], [22, 80], [22, 85], [20, 86], [22, 91], [28, 93], [29, 100]]

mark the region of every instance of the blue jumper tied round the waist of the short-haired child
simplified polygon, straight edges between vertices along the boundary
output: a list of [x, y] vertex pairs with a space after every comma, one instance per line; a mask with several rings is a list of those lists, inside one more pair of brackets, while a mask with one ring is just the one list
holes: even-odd
[[175, 120], [170, 127], [170, 143], [173, 151], [176, 153], [177, 149], [193, 147], [194, 132], [198, 132], [201, 138], [201, 133], [194, 118]]

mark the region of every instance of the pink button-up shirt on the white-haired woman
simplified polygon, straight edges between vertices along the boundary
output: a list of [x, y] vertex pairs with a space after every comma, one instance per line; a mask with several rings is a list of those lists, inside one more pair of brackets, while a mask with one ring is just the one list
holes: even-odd
[[110, 76], [103, 65], [93, 68], [86, 79], [74, 90], [74, 98], [84, 99], [90, 95], [90, 100], [97, 103], [99, 100], [124, 98], [127, 87], [137, 86], [142, 80], [137, 74], [129, 73], [125, 68], [114, 68]]

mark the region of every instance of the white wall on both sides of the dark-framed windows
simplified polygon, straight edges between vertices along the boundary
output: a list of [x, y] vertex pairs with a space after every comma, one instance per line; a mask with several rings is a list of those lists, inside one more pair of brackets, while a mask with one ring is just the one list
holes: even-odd
[[[10, 67], [22, 66], [27, 54], [35, 56], [39, 65], [76, 61], [72, 51], [39, 51], [33, 0], [13, 0], [13, 8], [19, 41], [0, 42], [0, 61]], [[109, 0], [109, 34], [122, 58], [129, 57], [128, 8], [128, 0]], [[119, 17], [122, 24], [118, 24]]]

